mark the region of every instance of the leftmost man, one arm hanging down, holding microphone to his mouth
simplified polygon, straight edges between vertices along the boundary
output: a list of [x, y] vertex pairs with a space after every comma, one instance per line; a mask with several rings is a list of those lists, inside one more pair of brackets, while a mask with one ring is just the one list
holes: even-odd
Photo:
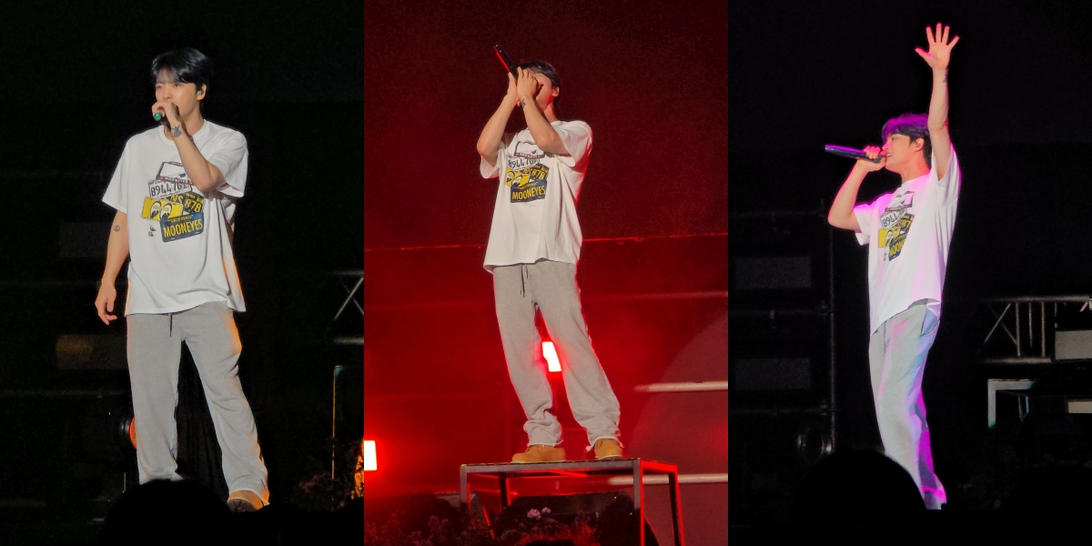
[[115, 280], [127, 257], [129, 379], [140, 483], [178, 473], [178, 367], [186, 343], [201, 375], [223, 452], [227, 505], [253, 511], [269, 502], [265, 463], [238, 379], [242, 348], [233, 310], [246, 307], [232, 252], [236, 200], [247, 180], [247, 141], [206, 121], [212, 66], [187, 48], [152, 61], [162, 127], [126, 143], [103, 201], [117, 210], [102, 287], [104, 323], [117, 319]]

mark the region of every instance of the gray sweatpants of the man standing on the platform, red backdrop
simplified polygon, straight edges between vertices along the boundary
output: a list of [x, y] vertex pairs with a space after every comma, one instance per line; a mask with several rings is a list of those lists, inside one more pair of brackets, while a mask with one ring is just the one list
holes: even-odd
[[508, 373], [527, 417], [523, 429], [529, 444], [557, 446], [561, 425], [550, 413], [554, 392], [541, 354], [535, 309], [542, 311], [561, 360], [561, 377], [577, 423], [587, 431], [589, 444], [618, 439], [618, 399], [592, 348], [580, 307], [577, 265], [539, 260], [492, 270], [497, 322], [505, 345]]

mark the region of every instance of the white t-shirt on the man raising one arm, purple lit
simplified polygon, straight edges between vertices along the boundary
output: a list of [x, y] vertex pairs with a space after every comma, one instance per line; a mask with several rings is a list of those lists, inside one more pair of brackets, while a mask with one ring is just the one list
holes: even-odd
[[853, 209], [860, 227], [857, 241], [868, 245], [873, 333], [888, 319], [923, 299], [940, 316], [961, 183], [956, 150], [950, 150], [951, 159], [943, 178], [937, 179], [934, 154], [929, 174]]

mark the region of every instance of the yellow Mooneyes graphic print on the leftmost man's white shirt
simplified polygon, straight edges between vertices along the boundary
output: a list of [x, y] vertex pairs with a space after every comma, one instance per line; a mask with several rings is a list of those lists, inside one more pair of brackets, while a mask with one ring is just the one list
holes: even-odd
[[[159, 224], [164, 242], [204, 232], [204, 198], [193, 191], [180, 163], [164, 162], [155, 179], [147, 182], [141, 217]], [[155, 233], [149, 226], [149, 236]]]

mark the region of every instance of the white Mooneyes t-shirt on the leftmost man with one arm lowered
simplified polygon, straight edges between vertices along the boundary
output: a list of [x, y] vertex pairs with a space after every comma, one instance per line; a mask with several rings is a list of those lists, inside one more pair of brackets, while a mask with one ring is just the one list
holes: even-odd
[[157, 126], [129, 139], [103, 195], [128, 217], [127, 316], [180, 312], [210, 301], [246, 310], [232, 237], [235, 202], [247, 181], [247, 141], [207, 120], [192, 138], [224, 174], [226, 187], [207, 193], [194, 188], [178, 149]]

